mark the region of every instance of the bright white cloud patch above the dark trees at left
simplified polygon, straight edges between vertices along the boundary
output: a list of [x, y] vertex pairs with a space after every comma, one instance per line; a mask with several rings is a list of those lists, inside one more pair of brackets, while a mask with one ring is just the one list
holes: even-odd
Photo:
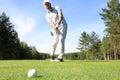
[[14, 15], [11, 17], [12, 23], [15, 25], [15, 29], [20, 37], [24, 37], [29, 34], [35, 27], [35, 20], [32, 17], [25, 15]]

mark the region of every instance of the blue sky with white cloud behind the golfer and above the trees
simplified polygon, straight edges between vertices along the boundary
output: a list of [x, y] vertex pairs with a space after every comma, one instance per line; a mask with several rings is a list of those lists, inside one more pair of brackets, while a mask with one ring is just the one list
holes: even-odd
[[[99, 15], [107, 8], [109, 0], [50, 0], [52, 6], [60, 6], [68, 23], [65, 52], [77, 52], [78, 39], [82, 32], [96, 32], [102, 39], [105, 24]], [[14, 24], [20, 41], [35, 46], [39, 52], [50, 53], [51, 27], [45, 15], [44, 0], [0, 0], [0, 14], [5, 12]], [[56, 53], [59, 53], [59, 46]]]

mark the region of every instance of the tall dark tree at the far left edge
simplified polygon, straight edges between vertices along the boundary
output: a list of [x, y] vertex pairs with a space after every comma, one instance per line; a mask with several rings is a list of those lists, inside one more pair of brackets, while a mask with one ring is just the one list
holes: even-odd
[[19, 38], [14, 25], [3, 12], [0, 16], [0, 59], [12, 59], [18, 45]]

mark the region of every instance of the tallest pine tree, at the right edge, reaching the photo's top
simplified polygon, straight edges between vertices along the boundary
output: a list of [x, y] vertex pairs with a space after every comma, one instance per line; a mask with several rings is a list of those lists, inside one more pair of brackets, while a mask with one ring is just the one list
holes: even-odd
[[106, 32], [110, 35], [111, 45], [114, 51], [114, 59], [118, 59], [120, 45], [120, 4], [119, 0], [110, 0], [108, 8], [103, 8], [100, 13], [106, 24]]

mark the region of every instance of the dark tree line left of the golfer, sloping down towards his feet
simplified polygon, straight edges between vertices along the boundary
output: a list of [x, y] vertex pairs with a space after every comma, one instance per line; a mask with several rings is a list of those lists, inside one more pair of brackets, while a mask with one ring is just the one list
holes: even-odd
[[21, 42], [9, 17], [0, 15], [0, 59], [46, 59], [47, 53], [40, 53], [34, 46]]

